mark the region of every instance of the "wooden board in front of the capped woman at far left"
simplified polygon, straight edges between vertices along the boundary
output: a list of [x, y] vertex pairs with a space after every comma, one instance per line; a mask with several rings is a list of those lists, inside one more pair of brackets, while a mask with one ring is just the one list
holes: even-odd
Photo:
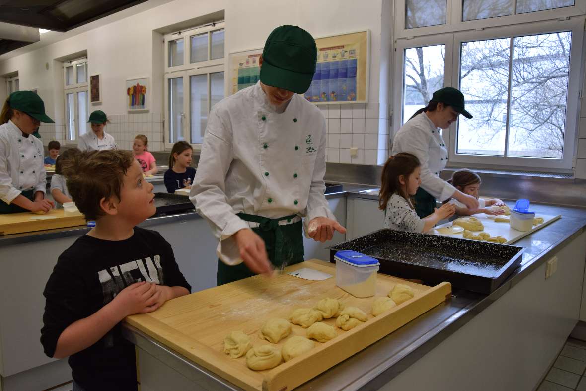
[[80, 225], [86, 225], [84, 215], [79, 212], [66, 215], [63, 209], [51, 209], [45, 215], [35, 215], [30, 212], [0, 215], [0, 235]]

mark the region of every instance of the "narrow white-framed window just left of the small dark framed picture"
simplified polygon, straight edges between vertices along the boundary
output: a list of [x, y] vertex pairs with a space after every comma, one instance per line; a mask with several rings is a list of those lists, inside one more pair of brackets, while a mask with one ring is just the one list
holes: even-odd
[[67, 142], [75, 144], [88, 131], [90, 116], [87, 59], [63, 63], [65, 131]]

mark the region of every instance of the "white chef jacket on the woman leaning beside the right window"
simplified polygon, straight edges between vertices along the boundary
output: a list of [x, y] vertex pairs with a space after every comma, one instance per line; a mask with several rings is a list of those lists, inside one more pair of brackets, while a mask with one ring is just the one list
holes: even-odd
[[448, 149], [441, 131], [427, 114], [408, 120], [395, 135], [392, 155], [409, 152], [421, 163], [421, 187], [440, 201], [447, 200], [456, 188], [440, 178], [448, 163]]

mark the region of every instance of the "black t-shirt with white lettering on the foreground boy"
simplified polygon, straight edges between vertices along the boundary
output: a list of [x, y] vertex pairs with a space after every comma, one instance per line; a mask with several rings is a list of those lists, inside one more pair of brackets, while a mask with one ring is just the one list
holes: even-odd
[[[190, 285], [179, 271], [171, 244], [156, 231], [134, 227], [119, 242], [84, 235], [65, 250], [47, 281], [40, 341], [52, 357], [59, 336], [70, 324], [94, 314], [128, 285]], [[136, 390], [134, 345], [118, 323], [96, 344], [69, 358], [71, 375], [83, 389]]]

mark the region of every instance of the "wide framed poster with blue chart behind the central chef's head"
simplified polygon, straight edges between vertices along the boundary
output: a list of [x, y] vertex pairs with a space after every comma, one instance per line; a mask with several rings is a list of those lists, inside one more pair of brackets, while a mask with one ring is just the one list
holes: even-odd
[[[316, 104], [368, 101], [370, 32], [317, 38], [318, 59], [314, 79], [304, 94]], [[259, 79], [258, 57], [263, 49], [230, 53], [229, 94], [253, 86]]]

